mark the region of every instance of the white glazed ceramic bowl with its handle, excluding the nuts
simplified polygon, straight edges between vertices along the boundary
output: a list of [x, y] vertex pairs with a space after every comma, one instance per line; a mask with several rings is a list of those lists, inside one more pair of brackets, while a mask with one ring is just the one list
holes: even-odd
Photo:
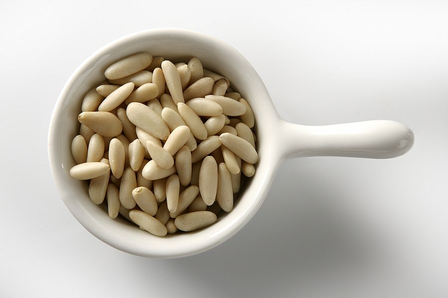
[[[233, 210], [216, 224], [195, 232], [157, 237], [123, 219], [111, 220], [93, 204], [87, 183], [70, 177], [74, 165], [71, 141], [78, 134], [84, 94], [104, 80], [107, 66], [140, 51], [165, 59], [198, 57], [205, 68], [227, 77], [251, 105], [256, 118], [259, 162]], [[244, 226], [260, 208], [275, 171], [287, 156], [391, 158], [411, 149], [414, 137], [406, 126], [386, 120], [331, 126], [302, 126], [282, 120], [263, 81], [235, 49], [213, 37], [183, 29], [154, 29], [119, 38], [87, 59], [65, 84], [53, 111], [48, 136], [51, 170], [62, 200], [92, 234], [113, 247], [140, 256], [175, 258], [219, 245]]]

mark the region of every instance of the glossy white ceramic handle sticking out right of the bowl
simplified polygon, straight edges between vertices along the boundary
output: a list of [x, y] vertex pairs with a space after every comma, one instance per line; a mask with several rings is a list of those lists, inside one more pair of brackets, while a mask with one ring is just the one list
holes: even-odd
[[414, 144], [414, 133], [390, 120], [373, 120], [326, 126], [281, 122], [283, 156], [346, 156], [392, 158]]

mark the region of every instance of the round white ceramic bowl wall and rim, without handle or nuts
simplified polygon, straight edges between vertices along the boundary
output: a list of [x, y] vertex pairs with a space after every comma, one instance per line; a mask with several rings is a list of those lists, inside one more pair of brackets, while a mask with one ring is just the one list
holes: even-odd
[[[187, 31], [188, 32], [188, 31]], [[69, 176], [74, 165], [71, 156], [71, 141], [79, 132], [78, 114], [85, 93], [104, 80], [105, 69], [125, 56], [148, 52], [154, 57], [162, 56], [173, 62], [187, 62], [198, 57], [206, 69], [224, 75], [230, 80], [242, 97], [254, 110], [257, 126], [257, 151], [259, 162], [256, 174], [248, 179], [244, 192], [229, 214], [205, 229], [183, 233], [174, 237], [160, 238], [142, 231], [123, 221], [113, 221], [102, 208], [93, 204], [88, 196], [84, 181]], [[226, 44], [203, 35], [150, 32], [133, 35], [112, 43], [94, 54], [79, 70], [80, 75], [68, 85], [65, 98], [60, 98], [60, 112], [55, 114], [54, 150], [57, 164], [62, 167], [55, 177], [62, 198], [74, 216], [89, 231], [112, 246], [138, 255], [153, 257], [174, 257], [207, 250], [223, 242], [236, 232], [259, 208], [265, 190], [271, 180], [276, 161], [272, 161], [272, 144], [264, 142], [272, 136], [271, 121], [278, 117], [266, 88], [248, 62]], [[270, 144], [270, 145], [269, 145]], [[59, 180], [59, 181], [58, 181]]]

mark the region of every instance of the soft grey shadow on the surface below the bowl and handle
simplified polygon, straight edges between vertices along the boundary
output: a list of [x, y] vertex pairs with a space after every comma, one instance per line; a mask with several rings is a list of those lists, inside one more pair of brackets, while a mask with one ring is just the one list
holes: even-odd
[[329, 275], [368, 271], [381, 259], [380, 241], [362, 219], [350, 218], [349, 206], [336, 202], [356, 194], [332, 181], [334, 172], [315, 165], [302, 160], [281, 165], [261, 209], [222, 245], [181, 259], [130, 257], [132, 266], [144, 280], [156, 262], [190, 281], [193, 293], [217, 297], [272, 297], [279, 286], [316, 288]]

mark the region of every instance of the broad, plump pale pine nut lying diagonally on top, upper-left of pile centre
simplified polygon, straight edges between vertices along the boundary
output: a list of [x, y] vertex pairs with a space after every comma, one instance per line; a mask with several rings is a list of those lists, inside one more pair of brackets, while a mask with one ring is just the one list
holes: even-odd
[[170, 130], [163, 119], [142, 103], [131, 102], [127, 106], [126, 115], [135, 126], [160, 140], [166, 140], [170, 134]]

